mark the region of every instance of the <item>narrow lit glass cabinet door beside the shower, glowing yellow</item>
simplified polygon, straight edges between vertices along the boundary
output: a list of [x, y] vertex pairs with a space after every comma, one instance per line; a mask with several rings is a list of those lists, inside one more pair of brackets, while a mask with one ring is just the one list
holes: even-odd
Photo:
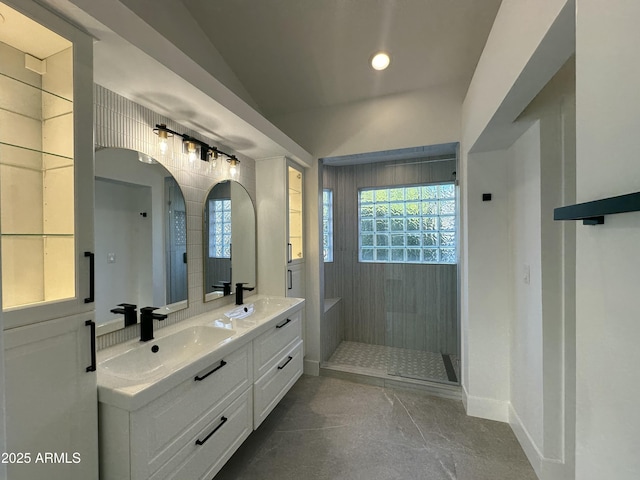
[[304, 261], [303, 186], [302, 169], [287, 162], [287, 263]]

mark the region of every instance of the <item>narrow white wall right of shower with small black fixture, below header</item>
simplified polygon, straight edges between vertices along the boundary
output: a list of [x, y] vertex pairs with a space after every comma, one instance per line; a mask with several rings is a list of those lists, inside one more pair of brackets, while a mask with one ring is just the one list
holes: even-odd
[[[469, 415], [506, 422], [509, 401], [507, 162], [463, 155], [462, 387]], [[491, 193], [490, 202], [482, 201]]]

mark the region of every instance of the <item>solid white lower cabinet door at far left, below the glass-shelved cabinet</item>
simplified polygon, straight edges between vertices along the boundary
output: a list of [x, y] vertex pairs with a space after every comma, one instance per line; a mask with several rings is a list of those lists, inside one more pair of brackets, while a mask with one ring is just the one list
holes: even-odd
[[7, 465], [12, 480], [98, 478], [98, 415], [91, 317], [76, 315], [4, 333]]

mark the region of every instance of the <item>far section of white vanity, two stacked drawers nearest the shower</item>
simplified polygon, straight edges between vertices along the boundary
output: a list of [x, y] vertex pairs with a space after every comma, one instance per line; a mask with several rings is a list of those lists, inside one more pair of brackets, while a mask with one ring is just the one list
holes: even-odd
[[302, 355], [302, 310], [286, 316], [253, 341], [254, 428], [302, 375]]

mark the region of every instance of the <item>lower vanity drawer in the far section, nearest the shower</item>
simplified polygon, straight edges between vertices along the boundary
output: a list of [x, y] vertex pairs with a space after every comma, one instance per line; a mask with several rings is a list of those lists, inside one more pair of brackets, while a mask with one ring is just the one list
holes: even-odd
[[271, 413], [282, 397], [302, 375], [302, 340], [285, 350], [253, 387], [253, 428], [256, 429]]

